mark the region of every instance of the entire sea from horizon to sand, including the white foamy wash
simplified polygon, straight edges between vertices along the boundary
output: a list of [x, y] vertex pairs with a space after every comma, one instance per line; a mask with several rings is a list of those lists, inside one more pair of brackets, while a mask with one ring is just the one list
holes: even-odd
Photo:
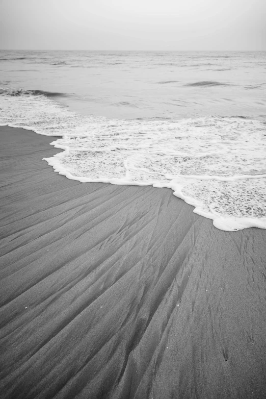
[[0, 124], [59, 136], [46, 161], [69, 179], [168, 187], [218, 229], [265, 229], [265, 60], [0, 51]]

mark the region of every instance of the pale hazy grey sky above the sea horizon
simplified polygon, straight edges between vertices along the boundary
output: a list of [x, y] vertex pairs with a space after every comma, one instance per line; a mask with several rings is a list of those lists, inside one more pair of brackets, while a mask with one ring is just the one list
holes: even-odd
[[266, 50], [266, 0], [0, 0], [0, 48]]

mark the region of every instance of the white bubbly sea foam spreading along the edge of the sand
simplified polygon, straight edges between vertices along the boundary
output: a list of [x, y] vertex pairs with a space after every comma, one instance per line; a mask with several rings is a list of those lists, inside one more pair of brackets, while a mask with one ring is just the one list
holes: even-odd
[[78, 115], [44, 92], [0, 90], [0, 124], [61, 136], [45, 160], [81, 182], [168, 187], [226, 231], [266, 228], [266, 129], [208, 116], [118, 120]]

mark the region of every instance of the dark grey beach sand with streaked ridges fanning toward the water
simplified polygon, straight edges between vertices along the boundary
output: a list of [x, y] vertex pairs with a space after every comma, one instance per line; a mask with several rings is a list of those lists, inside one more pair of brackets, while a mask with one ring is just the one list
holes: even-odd
[[1, 397], [266, 397], [266, 230], [79, 183], [0, 128]]

